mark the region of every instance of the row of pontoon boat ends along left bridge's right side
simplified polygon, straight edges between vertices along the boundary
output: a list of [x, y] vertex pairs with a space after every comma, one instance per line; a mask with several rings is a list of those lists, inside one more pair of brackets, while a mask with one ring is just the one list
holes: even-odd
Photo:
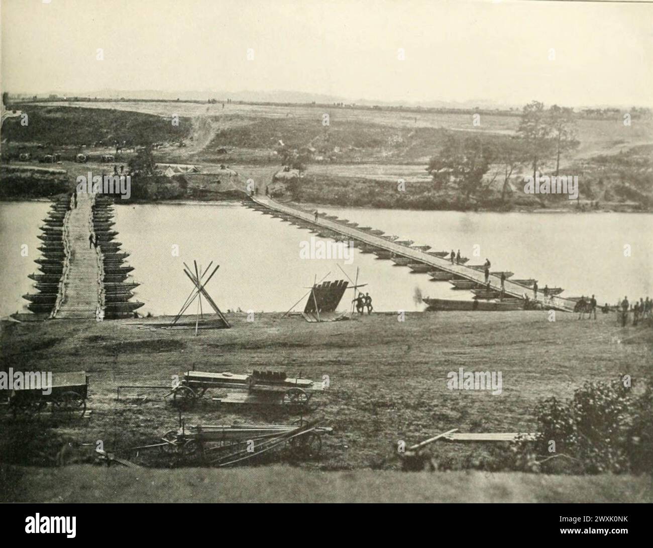
[[106, 319], [132, 317], [143, 302], [132, 302], [133, 289], [138, 283], [129, 278], [133, 266], [124, 264], [129, 253], [120, 251], [121, 243], [114, 242], [118, 232], [112, 230], [114, 208], [110, 199], [97, 197], [93, 206], [93, 231], [101, 249], [103, 278], [103, 309]]

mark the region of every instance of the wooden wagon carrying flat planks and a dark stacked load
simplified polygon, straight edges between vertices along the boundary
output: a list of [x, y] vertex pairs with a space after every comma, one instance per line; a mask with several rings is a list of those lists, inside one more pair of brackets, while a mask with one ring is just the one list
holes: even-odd
[[227, 389], [223, 398], [213, 398], [227, 404], [283, 405], [289, 410], [308, 410], [315, 392], [323, 391], [321, 382], [289, 378], [284, 372], [254, 371], [251, 374], [188, 371], [172, 388], [174, 403], [181, 408], [195, 405], [210, 389]]

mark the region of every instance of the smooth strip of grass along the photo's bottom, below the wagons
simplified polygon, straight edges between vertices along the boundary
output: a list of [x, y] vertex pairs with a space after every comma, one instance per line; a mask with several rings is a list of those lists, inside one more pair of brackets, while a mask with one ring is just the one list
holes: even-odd
[[[488, 472], [0, 468], [18, 502], [652, 502], [650, 478]], [[292, 487], [291, 487], [292, 486]], [[8, 495], [8, 496], [7, 496]], [[0, 496], [0, 500], [2, 497]]]

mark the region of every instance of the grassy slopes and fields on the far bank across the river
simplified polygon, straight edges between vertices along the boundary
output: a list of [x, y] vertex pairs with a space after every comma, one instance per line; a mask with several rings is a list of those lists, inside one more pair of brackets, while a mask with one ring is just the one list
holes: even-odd
[[[27, 150], [39, 156], [56, 148], [67, 160], [80, 151], [97, 159], [101, 153], [114, 153], [108, 144], [115, 138], [126, 138], [130, 144], [160, 142], [154, 153], [159, 162], [209, 168], [223, 164], [234, 169], [259, 166], [255, 169], [263, 170], [269, 182], [268, 168], [281, 167], [278, 152], [283, 143], [289, 150], [310, 151], [302, 191], [285, 185], [277, 189], [279, 195], [295, 201], [445, 210], [575, 207], [575, 202], [557, 196], [542, 199], [525, 195], [522, 190], [524, 176], [530, 174], [528, 165], [513, 172], [507, 204], [502, 200], [501, 166], [490, 169], [486, 179], [495, 172], [500, 176], [474, 204], [460, 202], [455, 191], [434, 189], [426, 166], [449, 133], [477, 135], [486, 144], [497, 144], [515, 134], [517, 112], [509, 116], [483, 114], [481, 125], [474, 126], [471, 115], [465, 112], [337, 106], [228, 104], [223, 108], [220, 103], [106, 101], [24, 105], [24, 109], [31, 116], [29, 131], [22, 131], [18, 122], [11, 120], [3, 129], [3, 137], [8, 138], [5, 150], [14, 156]], [[328, 125], [323, 125], [324, 114], [329, 116]], [[170, 121], [174, 115], [180, 117], [178, 126]], [[580, 146], [563, 155], [561, 173], [579, 177], [583, 206], [593, 208], [593, 202], [598, 201], [609, 210], [650, 210], [653, 122], [635, 119], [631, 126], [625, 126], [618, 117], [581, 118], [577, 120], [577, 137]], [[104, 145], [97, 144], [101, 140]], [[45, 144], [45, 148], [37, 148], [37, 144]], [[86, 148], [81, 148], [82, 144]], [[117, 161], [125, 163], [131, 154], [122, 153]], [[66, 167], [71, 175], [78, 171], [74, 165]], [[552, 172], [554, 158], [541, 161], [540, 169]], [[409, 184], [403, 193], [396, 191], [400, 178]]]

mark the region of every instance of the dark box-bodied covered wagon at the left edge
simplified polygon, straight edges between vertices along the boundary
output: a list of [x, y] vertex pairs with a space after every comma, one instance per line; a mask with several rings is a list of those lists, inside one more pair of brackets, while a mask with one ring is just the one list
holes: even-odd
[[61, 416], [80, 416], [86, 413], [88, 375], [84, 371], [53, 373], [49, 394], [43, 389], [14, 390], [9, 396], [12, 415], [38, 415], [51, 404], [52, 413]]

